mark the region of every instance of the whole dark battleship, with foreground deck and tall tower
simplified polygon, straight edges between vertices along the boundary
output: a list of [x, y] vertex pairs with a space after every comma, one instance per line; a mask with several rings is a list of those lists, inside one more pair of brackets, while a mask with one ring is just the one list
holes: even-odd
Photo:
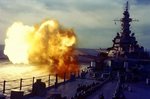
[[[115, 21], [121, 22], [121, 32], [114, 37], [113, 46], [103, 51], [95, 50], [95, 55], [80, 53], [78, 61], [85, 62], [86, 65], [82, 66], [78, 75], [71, 73], [70, 78], [64, 75], [59, 83], [56, 74], [52, 86], [50, 84], [47, 86], [41, 79], [36, 79], [30, 93], [24, 95], [23, 90], [11, 91], [9, 98], [149, 99], [150, 56], [144, 47], [138, 44], [135, 33], [131, 32], [130, 22], [137, 20], [130, 18], [128, 2], [123, 18]], [[7, 97], [2, 94], [0, 99]]]

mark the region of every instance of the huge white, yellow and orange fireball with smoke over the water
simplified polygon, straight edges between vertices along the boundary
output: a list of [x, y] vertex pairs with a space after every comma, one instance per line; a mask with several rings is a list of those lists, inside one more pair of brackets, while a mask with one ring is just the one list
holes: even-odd
[[73, 55], [75, 33], [60, 26], [56, 20], [36, 26], [15, 22], [8, 28], [6, 37], [4, 54], [14, 64], [46, 64], [57, 74], [78, 71]]

